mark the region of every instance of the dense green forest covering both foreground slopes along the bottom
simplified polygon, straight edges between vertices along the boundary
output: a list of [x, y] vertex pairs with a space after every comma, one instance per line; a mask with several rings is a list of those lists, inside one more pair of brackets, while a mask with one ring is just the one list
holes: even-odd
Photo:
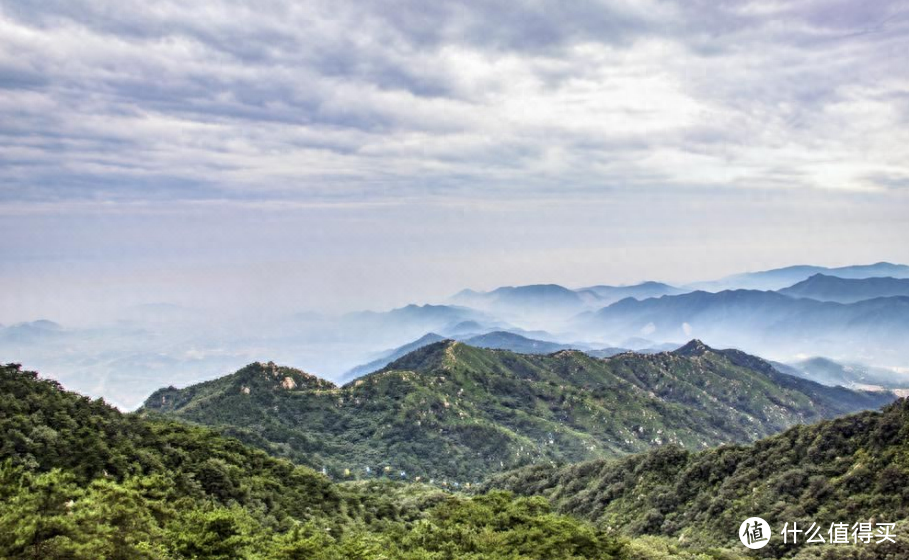
[[[303, 380], [301, 380], [303, 381]], [[0, 558], [904, 559], [909, 404], [753, 445], [535, 465], [480, 487], [334, 480], [206, 427], [0, 367]], [[896, 522], [895, 544], [744, 554], [750, 515]]]

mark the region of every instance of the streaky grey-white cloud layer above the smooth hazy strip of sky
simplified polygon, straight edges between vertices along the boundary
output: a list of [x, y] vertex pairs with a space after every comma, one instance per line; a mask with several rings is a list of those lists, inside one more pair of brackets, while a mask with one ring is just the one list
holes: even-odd
[[898, 2], [0, 2], [0, 201], [893, 190]]

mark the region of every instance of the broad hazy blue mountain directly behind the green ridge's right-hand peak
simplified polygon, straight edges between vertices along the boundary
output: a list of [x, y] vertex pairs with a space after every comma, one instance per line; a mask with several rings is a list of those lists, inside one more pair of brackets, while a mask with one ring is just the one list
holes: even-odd
[[841, 304], [757, 290], [697, 291], [624, 299], [579, 315], [574, 330], [606, 340], [632, 333], [657, 341], [697, 336], [760, 353], [845, 353], [862, 361], [905, 362], [909, 350], [901, 341], [909, 338], [909, 297]]

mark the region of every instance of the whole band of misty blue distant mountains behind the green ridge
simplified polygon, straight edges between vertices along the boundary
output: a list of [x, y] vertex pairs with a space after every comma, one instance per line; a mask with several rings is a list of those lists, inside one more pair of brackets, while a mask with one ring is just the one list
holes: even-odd
[[[428, 333], [462, 341], [488, 335], [471, 343], [522, 352], [576, 348], [596, 356], [660, 351], [697, 337], [781, 363], [818, 356], [906, 371], [909, 296], [894, 294], [902, 293], [907, 276], [909, 267], [889, 263], [796, 266], [708, 284], [464, 291], [457, 301], [346, 315], [263, 310], [261, 317], [237, 318], [155, 303], [125, 309], [110, 324], [4, 321], [0, 354], [53, 371], [67, 386], [124, 410], [158, 387], [211, 379], [256, 360], [301, 364], [344, 383], [384, 367]], [[497, 332], [531, 342], [491, 334]]]

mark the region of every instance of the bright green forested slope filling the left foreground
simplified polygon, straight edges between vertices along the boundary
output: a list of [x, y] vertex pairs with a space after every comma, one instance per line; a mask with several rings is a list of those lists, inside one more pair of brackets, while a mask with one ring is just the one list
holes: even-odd
[[18, 366], [0, 367], [0, 430], [4, 559], [631, 558], [630, 544], [541, 498], [335, 484], [208, 429], [121, 414]]

